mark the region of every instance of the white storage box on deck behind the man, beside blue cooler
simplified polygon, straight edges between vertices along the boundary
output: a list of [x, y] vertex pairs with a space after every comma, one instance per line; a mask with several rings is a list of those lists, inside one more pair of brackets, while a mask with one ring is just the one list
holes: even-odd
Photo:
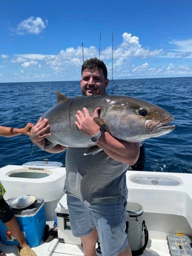
[[57, 233], [61, 243], [81, 245], [80, 238], [74, 237], [71, 231], [67, 195], [65, 194], [57, 203]]

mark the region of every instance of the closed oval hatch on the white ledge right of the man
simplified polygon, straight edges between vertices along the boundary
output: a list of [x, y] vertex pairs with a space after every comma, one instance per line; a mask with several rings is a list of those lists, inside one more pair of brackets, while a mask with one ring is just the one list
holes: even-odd
[[142, 185], [178, 186], [183, 182], [180, 178], [167, 175], [131, 175], [130, 181]]

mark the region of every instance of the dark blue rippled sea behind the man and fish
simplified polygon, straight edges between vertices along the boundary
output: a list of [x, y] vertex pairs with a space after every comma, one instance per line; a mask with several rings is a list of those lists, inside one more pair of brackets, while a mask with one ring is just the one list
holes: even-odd
[[[55, 104], [53, 90], [68, 97], [81, 95], [79, 81], [0, 83], [0, 124], [24, 127], [28, 122], [36, 123], [39, 116]], [[192, 77], [113, 80], [107, 92], [146, 100], [175, 117], [173, 132], [145, 141], [144, 170], [192, 172]], [[34, 145], [31, 154], [31, 141], [25, 135], [0, 136], [0, 143], [0, 167], [45, 158], [65, 165], [65, 152], [49, 154]]]

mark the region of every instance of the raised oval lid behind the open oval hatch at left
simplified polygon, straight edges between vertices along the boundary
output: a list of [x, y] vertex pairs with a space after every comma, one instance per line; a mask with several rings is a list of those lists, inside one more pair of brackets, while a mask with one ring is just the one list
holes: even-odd
[[48, 159], [45, 159], [44, 161], [32, 161], [22, 164], [25, 168], [41, 168], [41, 169], [53, 169], [58, 168], [62, 166], [61, 162], [52, 162], [47, 161]]

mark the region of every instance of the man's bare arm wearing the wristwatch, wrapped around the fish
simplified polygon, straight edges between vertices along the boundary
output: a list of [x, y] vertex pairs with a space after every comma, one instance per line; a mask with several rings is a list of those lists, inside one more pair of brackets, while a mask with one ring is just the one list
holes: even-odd
[[[98, 113], [99, 108], [95, 109], [94, 117], [98, 117]], [[80, 110], [77, 112], [76, 119], [76, 126], [88, 137], [100, 130], [86, 108], [83, 108], [83, 112]], [[108, 132], [103, 133], [96, 144], [111, 158], [122, 163], [133, 165], [139, 157], [139, 142], [125, 142], [114, 138]]]

